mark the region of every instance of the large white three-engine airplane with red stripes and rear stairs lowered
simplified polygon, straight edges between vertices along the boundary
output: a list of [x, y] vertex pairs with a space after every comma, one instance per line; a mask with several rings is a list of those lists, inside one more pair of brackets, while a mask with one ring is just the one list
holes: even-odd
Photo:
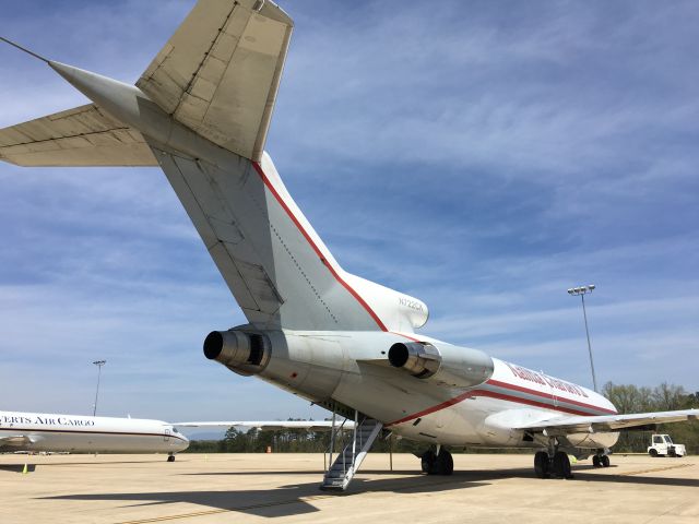
[[0, 131], [0, 158], [165, 171], [249, 322], [212, 332], [206, 358], [356, 417], [325, 489], [347, 487], [382, 428], [428, 444], [428, 474], [452, 473], [447, 446], [481, 445], [538, 450], [538, 476], [567, 477], [568, 453], [606, 466], [618, 430], [697, 417], [617, 415], [585, 388], [416, 333], [423, 301], [344, 271], [264, 152], [292, 29], [269, 0], [200, 0], [135, 86], [32, 53], [93, 104]]

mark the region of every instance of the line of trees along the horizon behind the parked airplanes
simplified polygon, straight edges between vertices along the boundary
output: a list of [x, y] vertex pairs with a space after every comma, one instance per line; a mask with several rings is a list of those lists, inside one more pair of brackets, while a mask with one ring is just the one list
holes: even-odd
[[[699, 392], [688, 393], [680, 385], [662, 383], [656, 388], [633, 384], [604, 384], [602, 393], [616, 406], [620, 414], [670, 412], [699, 407]], [[289, 419], [291, 420], [291, 419]], [[617, 453], [644, 453], [652, 432], [668, 433], [673, 441], [685, 444], [687, 452], [699, 453], [699, 421], [661, 425], [655, 431], [623, 431], [614, 446]], [[322, 453], [330, 448], [330, 431], [306, 429], [280, 429], [241, 431], [228, 428], [222, 440], [193, 440], [187, 452], [190, 453]], [[342, 450], [350, 442], [352, 431], [337, 437], [335, 450]], [[425, 443], [404, 439], [379, 438], [371, 449], [375, 452], [420, 453]], [[496, 450], [466, 449], [466, 452], [494, 452]], [[505, 450], [502, 450], [505, 451]]]

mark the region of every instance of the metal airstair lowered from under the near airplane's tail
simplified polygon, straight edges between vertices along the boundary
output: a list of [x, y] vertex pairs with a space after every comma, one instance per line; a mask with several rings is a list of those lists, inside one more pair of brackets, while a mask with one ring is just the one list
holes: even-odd
[[[350, 442], [343, 448], [333, 462], [332, 456], [335, 448], [335, 440], [342, 436], [343, 425], [333, 429], [330, 439], [330, 460], [332, 464], [325, 472], [323, 484], [320, 489], [328, 491], [344, 491], [350, 486], [355, 474], [359, 469], [362, 462], [371, 449], [374, 441], [381, 432], [383, 425], [374, 418], [366, 417], [355, 412], [355, 425]], [[334, 426], [334, 425], [333, 425]]]

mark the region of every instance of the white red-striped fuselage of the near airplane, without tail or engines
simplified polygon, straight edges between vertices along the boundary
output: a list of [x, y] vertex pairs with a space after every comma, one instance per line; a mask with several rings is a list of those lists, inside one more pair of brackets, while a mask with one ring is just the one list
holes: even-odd
[[[244, 326], [249, 332], [250, 326]], [[258, 332], [262, 366], [226, 365], [257, 374], [311, 402], [339, 402], [411, 440], [454, 446], [541, 448], [538, 436], [514, 428], [565, 415], [609, 415], [604, 396], [577, 384], [493, 358], [491, 371], [467, 388], [447, 386], [392, 367], [389, 348], [405, 340], [445, 347], [429, 337], [381, 332]], [[455, 348], [455, 346], [451, 346]], [[467, 348], [461, 348], [467, 352]], [[613, 445], [617, 433], [567, 436], [582, 449]]]

